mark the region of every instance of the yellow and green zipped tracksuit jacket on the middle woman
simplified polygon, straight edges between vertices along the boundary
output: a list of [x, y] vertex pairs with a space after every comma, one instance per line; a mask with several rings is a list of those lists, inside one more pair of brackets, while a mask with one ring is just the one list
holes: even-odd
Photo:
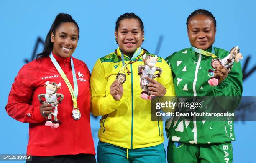
[[[124, 55], [124, 60], [128, 62], [130, 58]], [[161, 67], [163, 72], [155, 80], [166, 88], [165, 96], [175, 96], [171, 69], [161, 57], [157, 60], [156, 67]], [[91, 111], [95, 116], [102, 116], [98, 131], [100, 141], [127, 149], [156, 146], [164, 141], [162, 121], [151, 121], [151, 101], [140, 97], [138, 66], [143, 64], [142, 57], [128, 64], [131, 74], [125, 69], [123, 96], [115, 101], [110, 86], [122, 67], [121, 56], [113, 52], [95, 63], [91, 75]]]

